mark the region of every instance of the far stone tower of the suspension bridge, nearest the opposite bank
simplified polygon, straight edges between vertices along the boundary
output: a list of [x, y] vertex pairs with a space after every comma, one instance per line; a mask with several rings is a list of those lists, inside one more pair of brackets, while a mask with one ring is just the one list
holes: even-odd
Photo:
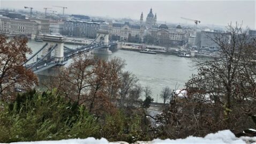
[[100, 54], [112, 54], [112, 52], [109, 50], [109, 31], [108, 30], [98, 30], [96, 34], [96, 40], [97, 43], [103, 43], [106, 45], [106, 47], [103, 47], [101, 49], [94, 50], [94, 53], [100, 53]]

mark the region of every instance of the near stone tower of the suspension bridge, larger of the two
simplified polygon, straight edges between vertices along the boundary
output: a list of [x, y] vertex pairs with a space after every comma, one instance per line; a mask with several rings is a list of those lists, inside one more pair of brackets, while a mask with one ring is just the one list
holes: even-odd
[[[46, 55], [57, 44], [54, 50], [55, 61], [63, 61], [65, 40], [64, 37], [56, 35], [43, 35], [42, 39], [44, 42], [48, 43], [48, 47], [45, 47], [42, 51], [42, 56]], [[51, 57], [51, 54], [49, 54], [49, 57]]]

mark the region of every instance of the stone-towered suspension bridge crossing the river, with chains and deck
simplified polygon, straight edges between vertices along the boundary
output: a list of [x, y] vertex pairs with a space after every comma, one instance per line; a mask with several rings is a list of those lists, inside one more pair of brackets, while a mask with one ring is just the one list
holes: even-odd
[[[77, 49], [70, 49], [64, 46], [65, 38], [63, 36], [43, 35], [42, 40], [46, 44], [24, 62], [25, 68], [31, 69], [35, 74], [55, 66], [63, 66], [76, 55], [92, 50], [103, 54], [111, 54], [109, 48], [117, 45], [117, 42], [109, 41], [109, 34], [106, 30], [97, 31], [96, 38], [90, 44]], [[38, 57], [40, 52], [41, 57]], [[32, 59], [35, 62], [29, 63]]]

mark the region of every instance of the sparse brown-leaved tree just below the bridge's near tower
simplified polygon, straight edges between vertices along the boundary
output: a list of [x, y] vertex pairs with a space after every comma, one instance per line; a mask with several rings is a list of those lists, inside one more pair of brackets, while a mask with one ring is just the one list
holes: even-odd
[[56, 87], [67, 99], [82, 103], [92, 86], [89, 80], [94, 74], [92, 67], [95, 63], [91, 55], [80, 54], [73, 58], [69, 67], [59, 69], [54, 77], [44, 82], [44, 85], [49, 89]]

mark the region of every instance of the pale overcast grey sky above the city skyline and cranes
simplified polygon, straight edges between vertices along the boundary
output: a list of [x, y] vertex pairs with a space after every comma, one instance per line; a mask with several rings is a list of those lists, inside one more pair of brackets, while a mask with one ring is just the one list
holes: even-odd
[[[185, 22], [180, 17], [198, 19], [202, 24], [226, 26], [230, 21], [242, 22], [243, 26], [255, 29], [254, 1], [4, 1], [0, 0], [1, 9], [10, 7], [24, 9], [24, 6], [34, 7], [43, 11], [43, 7], [52, 5], [67, 6], [69, 14], [85, 14], [94, 16], [109, 16], [114, 18], [140, 18], [144, 20], [150, 7], [157, 14], [157, 20], [167, 22]], [[59, 13], [61, 8], [52, 7]], [[193, 22], [192, 22], [193, 23]]]

